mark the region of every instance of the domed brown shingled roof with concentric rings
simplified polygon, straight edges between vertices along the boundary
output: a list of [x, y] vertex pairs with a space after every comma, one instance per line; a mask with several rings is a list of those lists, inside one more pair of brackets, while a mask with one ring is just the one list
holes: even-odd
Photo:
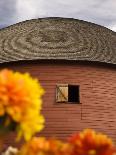
[[71, 18], [41, 18], [0, 30], [0, 63], [86, 60], [116, 64], [116, 33]]

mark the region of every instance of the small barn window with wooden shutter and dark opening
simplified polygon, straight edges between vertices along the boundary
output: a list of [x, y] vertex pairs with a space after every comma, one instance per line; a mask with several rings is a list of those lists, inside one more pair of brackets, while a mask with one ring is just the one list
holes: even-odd
[[57, 85], [56, 102], [80, 103], [79, 86], [70, 84]]

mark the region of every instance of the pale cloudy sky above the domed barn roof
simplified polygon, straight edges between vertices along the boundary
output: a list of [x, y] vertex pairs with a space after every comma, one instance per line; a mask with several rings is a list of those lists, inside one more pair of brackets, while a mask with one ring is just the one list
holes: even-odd
[[0, 0], [0, 28], [43, 17], [81, 19], [116, 32], [116, 0]]

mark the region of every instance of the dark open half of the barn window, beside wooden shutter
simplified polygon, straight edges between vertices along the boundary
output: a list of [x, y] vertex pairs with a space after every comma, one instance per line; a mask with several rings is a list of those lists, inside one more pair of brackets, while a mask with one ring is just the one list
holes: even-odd
[[79, 86], [68, 85], [68, 102], [80, 103]]

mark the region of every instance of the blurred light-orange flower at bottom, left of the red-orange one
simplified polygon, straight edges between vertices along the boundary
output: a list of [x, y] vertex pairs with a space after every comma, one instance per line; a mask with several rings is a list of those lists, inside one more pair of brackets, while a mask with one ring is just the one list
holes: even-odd
[[27, 142], [19, 155], [71, 155], [70, 145], [55, 139], [32, 138]]

